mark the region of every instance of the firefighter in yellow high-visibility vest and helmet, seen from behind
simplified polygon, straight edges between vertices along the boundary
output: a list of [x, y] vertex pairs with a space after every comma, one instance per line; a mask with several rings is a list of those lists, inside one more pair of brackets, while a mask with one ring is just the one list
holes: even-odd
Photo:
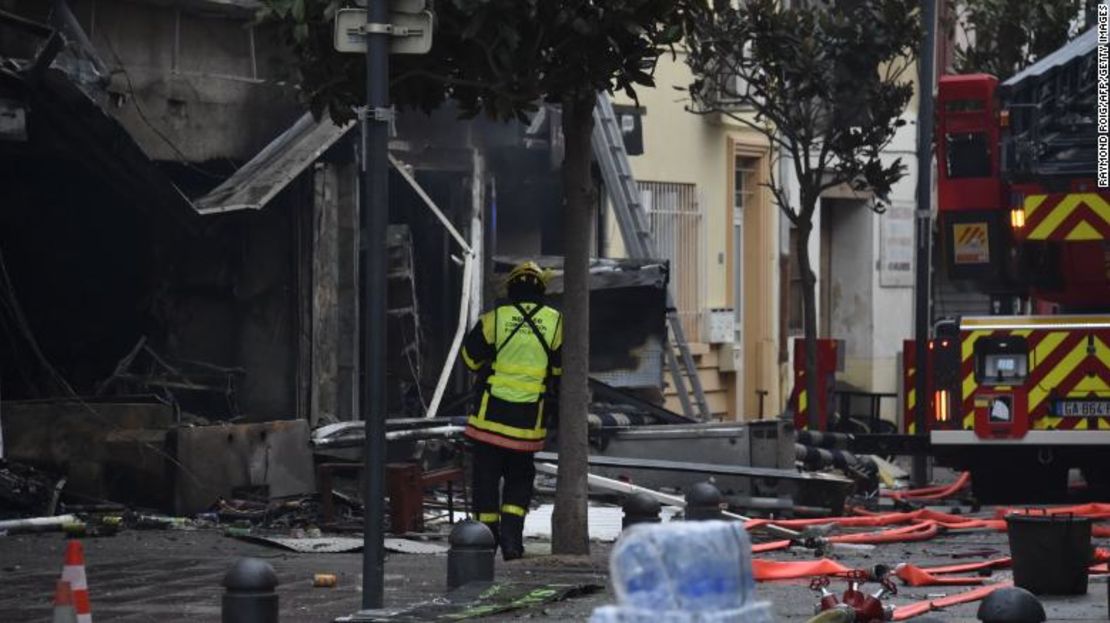
[[505, 284], [507, 302], [482, 314], [463, 342], [463, 361], [477, 373], [465, 432], [474, 511], [506, 561], [524, 555], [533, 455], [544, 446], [563, 373], [563, 315], [544, 304], [547, 279], [535, 262], [514, 268]]

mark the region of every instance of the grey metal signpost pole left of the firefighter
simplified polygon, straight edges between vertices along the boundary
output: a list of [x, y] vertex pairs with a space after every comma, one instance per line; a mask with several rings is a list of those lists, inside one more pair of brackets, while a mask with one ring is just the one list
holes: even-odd
[[390, 23], [387, 0], [366, 6], [366, 111], [363, 120], [362, 278], [363, 378], [362, 409], [366, 422], [363, 479], [364, 537], [362, 607], [380, 609], [385, 593], [385, 228], [390, 219], [389, 118]]

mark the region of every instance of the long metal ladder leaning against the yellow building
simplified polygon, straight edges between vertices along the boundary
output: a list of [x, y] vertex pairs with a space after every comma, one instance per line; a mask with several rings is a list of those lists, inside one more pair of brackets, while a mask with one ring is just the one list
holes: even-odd
[[[605, 181], [605, 188], [613, 202], [613, 212], [616, 214], [620, 237], [625, 241], [628, 257], [638, 260], [659, 259], [652, 231], [645, 225], [644, 205], [640, 203], [639, 188], [632, 177], [632, 167], [628, 164], [624, 137], [616, 114], [613, 112], [613, 103], [605, 92], [597, 94], [597, 105], [594, 107], [594, 133], [591, 142], [597, 165], [602, 170], [602, 179]], [[709, 420], [709, 405], [705, 400], [705, 392], [702, 391], [702, 379], [697, 374], [697, 366], [694, 364], [694, 358], [686, 343], [686, 334], [683, 331], [682, 320], [678, 318], [678, 310], [675, 309], [673, 289], [674, 283], [668, 282], [667, 324], [670, 326], [674, 341], [668, 340], [664, 344], [664, 356], [667, 359], [667, 368], [670, 370], [675, 391], [683, 405], [683, 414], [696, 420]], [[676, 349], [678, 354], [675, 353]], [[682, 368], [679, 368], [679, 358]], [[683, 378], [684, 371], [686, 379]], [[690, 404], [686, 380], [694, 389], [694, 399], [697, 401], [696, 411], [695, 405]]]

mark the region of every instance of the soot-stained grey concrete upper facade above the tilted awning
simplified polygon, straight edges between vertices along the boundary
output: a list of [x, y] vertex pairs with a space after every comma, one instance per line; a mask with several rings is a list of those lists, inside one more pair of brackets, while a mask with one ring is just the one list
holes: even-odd
[[113, 112], [154, 160], [243, 161], [302, 112], [291, 59], [250, 13], [128, 0], [73, 12], [112, 71]]

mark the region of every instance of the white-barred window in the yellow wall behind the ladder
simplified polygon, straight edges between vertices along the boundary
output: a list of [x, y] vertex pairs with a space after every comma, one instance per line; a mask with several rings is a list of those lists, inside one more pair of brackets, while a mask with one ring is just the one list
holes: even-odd
[[659, 259], [670, 262], [675, 308], [686, 340], [702, 339], [702, 290], [705, 270], [702, 211], [694, 184], [639, 182]]

